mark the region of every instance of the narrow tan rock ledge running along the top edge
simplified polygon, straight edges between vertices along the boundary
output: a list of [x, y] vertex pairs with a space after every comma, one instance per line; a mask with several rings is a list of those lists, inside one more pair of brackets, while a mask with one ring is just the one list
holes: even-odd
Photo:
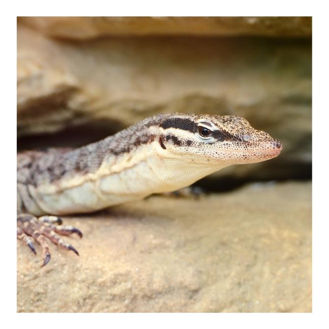
[[311, 36], [311, 17], [20, 17], [59, 38], [111, 35]]

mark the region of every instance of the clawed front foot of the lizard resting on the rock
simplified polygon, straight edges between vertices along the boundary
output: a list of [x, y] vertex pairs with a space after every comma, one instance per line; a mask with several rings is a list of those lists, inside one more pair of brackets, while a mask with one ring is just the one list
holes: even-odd
[[72, 250], [79, 256], [79, 252], [76, 248], [63, 240], [57, 233], [66, 236], [76, 233], [82, 238], [80, 230], [70, 225], [62, 225], [62, 220], [59, 217], [42, 216], [36, 218], [30, 214], [17, 215], [17, 239], [24, 241], [34, 254], [36, 254], [36, 250], [33, 245], [33, 240], [41, 246], [43, 258], [41, 267], [47, 265], [51, 259], [46, 238], [49, 238], [57, 246], [66, 250]]

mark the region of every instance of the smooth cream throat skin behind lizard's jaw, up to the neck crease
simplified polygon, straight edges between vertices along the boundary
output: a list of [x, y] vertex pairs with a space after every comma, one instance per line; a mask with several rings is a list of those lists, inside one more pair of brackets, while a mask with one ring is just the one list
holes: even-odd
[[186, 160], [164, 150], [155, 139], [115, 159], [114, 163], [109, 158], [96, 175], [101, 192], [126, 193], [139, 198], [189, 186], [224, 166]]

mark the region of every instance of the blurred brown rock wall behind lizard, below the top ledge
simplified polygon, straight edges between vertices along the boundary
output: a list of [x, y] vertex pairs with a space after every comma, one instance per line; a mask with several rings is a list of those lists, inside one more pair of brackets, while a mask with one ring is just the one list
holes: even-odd
[[275, 163], [241, 166], [234, 175], [269, 178], [276, 171], [274, 177], [287, 178], [310, 172], [310, 39], [78, 42], [48, 39], [20, 23], [17, 90], [20, 137], [82, 124], [111, 134], [159, 112], [235, 114], [281, 140], [283, 152]]

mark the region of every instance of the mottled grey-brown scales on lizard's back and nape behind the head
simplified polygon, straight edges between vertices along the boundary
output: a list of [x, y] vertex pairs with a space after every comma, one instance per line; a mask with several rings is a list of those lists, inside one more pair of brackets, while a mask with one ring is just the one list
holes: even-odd
[[160, 114], [147, 118], [119, 133], [77, 149], [51, 148], [45, 151], [25, 151], [17, 155], [17, 182], [38, 186], [55, 182], [65, 176], [83, 175], [97, 171], [105, 157], [128, 153], [140, 144], [153, 141], [148, 132], [159, 126]]

